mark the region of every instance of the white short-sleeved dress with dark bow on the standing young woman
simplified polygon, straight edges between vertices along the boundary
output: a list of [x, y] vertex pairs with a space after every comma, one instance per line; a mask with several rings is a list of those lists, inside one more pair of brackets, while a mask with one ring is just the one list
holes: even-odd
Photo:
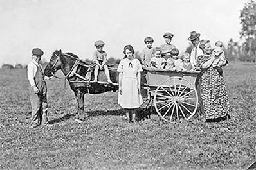
[[142, 95], [138, 92], [137, 73], [142, 72], [139, 60], [125, 58], [120, 61], [117, 72], [123, 72], [122, 95], [118, 94], [118, 104], [122, 108], [138, 108], [142, 105]]

